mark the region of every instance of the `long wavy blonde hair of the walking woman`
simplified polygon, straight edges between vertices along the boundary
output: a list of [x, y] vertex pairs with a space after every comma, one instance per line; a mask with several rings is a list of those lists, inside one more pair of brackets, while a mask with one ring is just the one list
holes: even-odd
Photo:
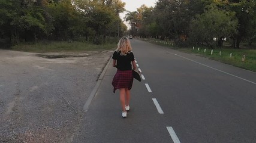
[[127, 37], [122, 37], [119, 40], [116, 51], [121, 51], [120, 55], [127, 55], [131, 51], [131, 43]]

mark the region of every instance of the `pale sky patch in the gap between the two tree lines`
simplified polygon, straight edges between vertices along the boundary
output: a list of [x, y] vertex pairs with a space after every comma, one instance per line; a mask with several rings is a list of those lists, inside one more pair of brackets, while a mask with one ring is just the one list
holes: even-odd
[[[141, 5], [146, 5], [147, 7], [155, 7], [155, 3], [157, 0], [121, 0], [122, 2], [125, 2], [125, 9], [127, 11], [137, 11], [137, 8], [139, 8]], [[125, 17], [126, 13], [120, 14], [121, 18]]]

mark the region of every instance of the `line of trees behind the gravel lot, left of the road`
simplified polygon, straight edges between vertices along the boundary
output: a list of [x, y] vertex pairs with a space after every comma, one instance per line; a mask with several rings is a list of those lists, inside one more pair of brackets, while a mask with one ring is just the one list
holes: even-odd
[[127, 29], [119, 18], [124, 6], [120, 0], [0, 0], [0, 42], [103, 43]]

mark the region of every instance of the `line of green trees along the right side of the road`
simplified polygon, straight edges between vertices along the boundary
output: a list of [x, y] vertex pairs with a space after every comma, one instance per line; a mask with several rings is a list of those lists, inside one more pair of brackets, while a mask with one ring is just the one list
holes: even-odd
[[231, 46], [256, 41], [254, 0], [158, 0], [141, 5], [125, 19], [134, 36], [173, 40], [176, 45]]

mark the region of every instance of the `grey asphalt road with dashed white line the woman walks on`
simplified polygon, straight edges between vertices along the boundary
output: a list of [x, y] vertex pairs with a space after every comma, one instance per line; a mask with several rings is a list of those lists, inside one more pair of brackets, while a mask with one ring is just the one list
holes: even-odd
[[128, 117], [121, 117], [109, 64], [73, 142], [256, 142], [256, 73], [131, 44], [144, 78], [134, 80]]

